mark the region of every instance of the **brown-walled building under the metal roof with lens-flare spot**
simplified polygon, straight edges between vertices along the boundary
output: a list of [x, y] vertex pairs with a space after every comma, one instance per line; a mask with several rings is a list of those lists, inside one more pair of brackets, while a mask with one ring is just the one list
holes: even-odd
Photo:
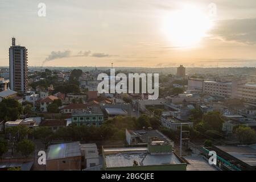
[[80, 171], [80, 142], [53, 144], [48, 147], [46, 171]]

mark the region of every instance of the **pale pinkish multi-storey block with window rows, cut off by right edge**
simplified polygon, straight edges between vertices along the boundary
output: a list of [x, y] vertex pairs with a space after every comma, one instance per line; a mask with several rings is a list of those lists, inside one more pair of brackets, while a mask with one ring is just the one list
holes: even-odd
[[243, 101], [256, 106], [256, 84], [247, 83], [243, 85], [238, 85], [237, 96]]

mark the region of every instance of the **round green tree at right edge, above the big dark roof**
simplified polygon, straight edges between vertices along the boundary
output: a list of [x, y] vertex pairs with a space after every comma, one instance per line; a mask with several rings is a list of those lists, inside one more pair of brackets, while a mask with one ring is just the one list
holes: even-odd
[[240, 126], [236, 129], [236, 137], [241, 143], [250, 143], [255, 141], [256, 134], [250, 127]]

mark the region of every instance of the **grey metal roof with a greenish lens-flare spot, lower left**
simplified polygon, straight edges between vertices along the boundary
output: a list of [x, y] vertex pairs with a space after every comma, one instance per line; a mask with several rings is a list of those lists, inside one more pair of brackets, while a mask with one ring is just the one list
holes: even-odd
[[81, 156], [80, 142], [54, 144], [48, 147], [47, 160]]

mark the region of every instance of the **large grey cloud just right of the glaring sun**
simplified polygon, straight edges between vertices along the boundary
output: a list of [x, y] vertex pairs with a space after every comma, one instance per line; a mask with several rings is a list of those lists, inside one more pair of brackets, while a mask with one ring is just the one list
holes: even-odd
[[221, 20], [210, 34], [226, 41], [256, 44], [256, 19]]

